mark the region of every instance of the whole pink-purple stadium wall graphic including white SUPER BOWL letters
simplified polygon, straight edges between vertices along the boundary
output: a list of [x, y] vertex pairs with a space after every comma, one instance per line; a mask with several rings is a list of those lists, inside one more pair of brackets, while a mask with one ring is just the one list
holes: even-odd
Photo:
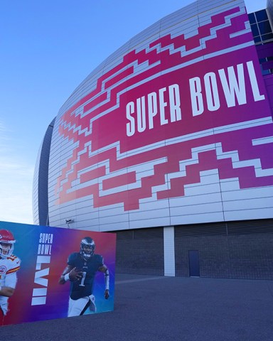
[[220, 191], [223, 180], [236, 179], [238, 190], [273, 185], [272, 117], [240, 6], [191, 36], [167, 33], [130, 50], [59, 122], [58, 138], [73, 148], [55, 206], [92, 195], [90, 210], [133, 212], [151, 198], [167, 207], [210, 171]]

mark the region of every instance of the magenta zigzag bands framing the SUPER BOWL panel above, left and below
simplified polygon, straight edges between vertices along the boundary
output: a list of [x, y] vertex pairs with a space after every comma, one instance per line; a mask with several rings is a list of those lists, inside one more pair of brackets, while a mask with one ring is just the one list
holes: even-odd
[[92, 195], [94, 207], [122, 203], [124, 210], [137, 210], [139, 200], [154, 191], [158, 200], [185, 195], [185, 185], [200, 183], [200, 172], [212, 169], [218, 169], [220, 179], [238, 178], [240, 188], [273, 185], [273, 161], [267, 157], [272, 141], [252, 142], [270, 138], [272, 123], [270, 128], [269, 124], [251, 126], [216, 137], [212, 131], [169, 145], [161, 140], [140, 152], [124, 149], [120, 136], [110, 144], [108, 136], [105, 141], [97, 139], [100, 129], [104, 134], [102, 117], [119, 108], [122, 94], [200, 58], [252, 45], [246, 21], [245, 11], [239, 8], [219, 13], [195, 36], [168, 34], [144, 50], [124, 55], [122, 63], [102, 75], [96, 89], [61, 117], [59, 134], [73, 141], [74, 149], [55, 186], [58, 204]]

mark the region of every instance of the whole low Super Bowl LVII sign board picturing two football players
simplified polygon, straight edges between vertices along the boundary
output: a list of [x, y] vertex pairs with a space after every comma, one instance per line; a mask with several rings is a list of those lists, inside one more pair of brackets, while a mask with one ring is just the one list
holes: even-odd
[[[0, 325], [69, 317], [70, 296], [75, 292], [79, 298], [74, 300], [74, 316], [114, 309], [115, 234], [0, 222], [0, 232], [6, 231], [14, 249], [9, 256], [3, 254], [0, 233], [0, 286], [10, 286], [14, 293], [9, 298], [0, 294], [4, 311]], [[86, 237], [92, 239], [90, 257], [82, 253]], [[77, 257], [78, 278], [68, 274], [61, 283], [71, 255]], [[77, 313], [82, 301], [87, 309]]]

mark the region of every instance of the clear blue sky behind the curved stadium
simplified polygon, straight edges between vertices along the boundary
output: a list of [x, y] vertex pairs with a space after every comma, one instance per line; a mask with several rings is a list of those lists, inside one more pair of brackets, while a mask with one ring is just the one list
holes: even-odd
[[[32, 183], [50, 121], [127, 40], [192, 0], [2, 0], [0, 220], [32, 224]], [[245, 0], [247, 11], [266, 0]]]

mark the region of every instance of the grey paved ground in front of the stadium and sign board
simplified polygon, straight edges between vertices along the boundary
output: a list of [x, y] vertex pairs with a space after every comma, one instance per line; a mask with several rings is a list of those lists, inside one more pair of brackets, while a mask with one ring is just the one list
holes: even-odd
[[1, 328], [9, 341], [273, 340], [273, 281], [116, 275], [114, 311]]

